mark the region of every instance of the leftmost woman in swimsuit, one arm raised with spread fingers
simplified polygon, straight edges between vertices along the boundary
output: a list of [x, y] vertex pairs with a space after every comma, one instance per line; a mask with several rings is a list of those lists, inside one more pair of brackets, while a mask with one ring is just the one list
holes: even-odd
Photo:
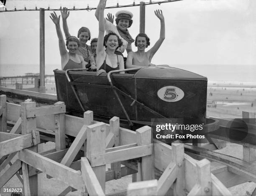
[[51, 20], [54, 22], [56, 27], [57, 36], [59, 38], [59, 52], [61, 55], [61, 69], [81, 69], [85, 68], [85, 62], [82, 56], [77, 54], [77, 48], [79, 47], [79, 40], [75, 36], [67, 38], [66, 46], [69, 52], [65, 48], [65, 42], [61, 33], [59, 25], [59, 17], [56, 13], [51, 13]]

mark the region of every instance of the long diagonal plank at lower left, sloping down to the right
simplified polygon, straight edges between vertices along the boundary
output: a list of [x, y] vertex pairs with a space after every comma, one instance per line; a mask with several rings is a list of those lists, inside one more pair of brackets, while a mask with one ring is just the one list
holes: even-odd
[[77, 190], [84, 191], [84, 181], [80, 171], [75, 171], [28, 149], [20, 151], [19, 159]]

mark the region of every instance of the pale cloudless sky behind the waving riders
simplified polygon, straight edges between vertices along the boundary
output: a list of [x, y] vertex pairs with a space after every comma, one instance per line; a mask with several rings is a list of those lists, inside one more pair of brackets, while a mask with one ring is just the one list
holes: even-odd
[[[127, 5], [133, 0], [108, 0], [106, 6], [116, 5], [117, 2]], [[95, 8], [97, 3], [97, 0], [8, 0], [6, 7], [8, 10], [14, 9], [14, 6], [17, 9], [24, 6], [27, 9], [36, 6], [86, 8], [87, 5]], [[121, 9], [107, 9], [105, 15], [108, 12], [115, 14]], [[129, 31], [135, 38], [139, 33], [139, 7], [125, 9], [134, 15]], [[255, 0], [182, 0], [147, 5], [145, 33], [151, 39], [151, 46], [160, 33], [160, 21], [154, 15], [156, 9], [163, 11], [166, 38], [152, 63], [170, 66], [236, 65], [245, 69], [256, 64]], [[45, 63], [59, 64], [60, 69], [58, 38], [55, 25], [49, 18], [50, 13], [45, 11]], [[91, 31], [91, 37], [97, 37], [98, 23], [94, 13], [95, 10], [70, 11], [67, 20], [70, 34], [77, 36], [78, 29], [86, 26]], [[134, 45], [133, 51], [136, 51]], [[6, 64], [39, 64], [39, 11], [0, 13], [0, 72], [4, 71]]]

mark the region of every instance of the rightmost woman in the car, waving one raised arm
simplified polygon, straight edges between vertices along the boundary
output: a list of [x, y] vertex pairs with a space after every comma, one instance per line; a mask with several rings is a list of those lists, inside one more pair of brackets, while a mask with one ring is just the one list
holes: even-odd
[[126, 68], [135, 68], [143, 66], [151, 66], [151, 60], [159, 49], [165, 38], [165, 24], [164, 24], [164, 15], [162, 10], [155, 10], [155, 15], [160, 19], [160, 37], [154, 46], [145, 52], [145, 48], [150, 45], [149, 38], [145, 33], [139, 33], [135, 39], [135, 46], [138, 50], [136, 52], [129, 52], [126, 60]]

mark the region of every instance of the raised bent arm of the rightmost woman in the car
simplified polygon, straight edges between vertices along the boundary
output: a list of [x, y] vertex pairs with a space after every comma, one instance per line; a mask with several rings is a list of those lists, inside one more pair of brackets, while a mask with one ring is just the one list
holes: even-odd
[[[160, 11], [161, 11], [161, 13], [160, 13]], [[157, 18], [160, 19], [160, 24], [161, 24], [160, 37], [156, 41], [154, 46], [148, 51], [148, 52], [150, 52], [149, 62], [151, 62], [152, 57], [154, 56], [156, 51], [159, 49], [159, 47], [161, 46], [161, 44], [163, 43], [164, 38], [165, 38], [165, 24], [164, 24], [164, 15], [162, 13], [162, 10], [156, 10], [155, 15], [156, 15]]]

